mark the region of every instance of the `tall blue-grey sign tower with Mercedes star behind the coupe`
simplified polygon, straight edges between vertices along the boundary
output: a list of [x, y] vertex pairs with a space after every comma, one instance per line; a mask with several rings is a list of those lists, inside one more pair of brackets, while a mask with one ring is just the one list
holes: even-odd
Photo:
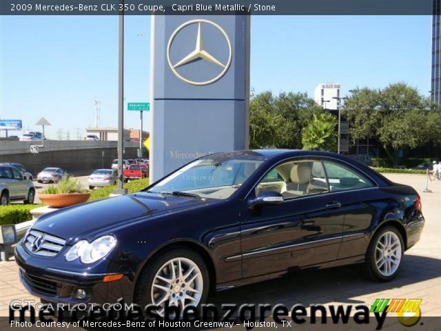
[[247, 15], [152, 17], [153, 181], [248, 148], [249, 25]]

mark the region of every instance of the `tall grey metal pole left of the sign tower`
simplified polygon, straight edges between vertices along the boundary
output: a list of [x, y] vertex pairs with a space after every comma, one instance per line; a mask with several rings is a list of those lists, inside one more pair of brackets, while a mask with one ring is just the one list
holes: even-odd
[[126, 194], [123, 179], [124, 143], [124, 0], [119, 1], [123, 12], [119, 14], [119, 63], [118, 63], [118, 188], [114, 194]]

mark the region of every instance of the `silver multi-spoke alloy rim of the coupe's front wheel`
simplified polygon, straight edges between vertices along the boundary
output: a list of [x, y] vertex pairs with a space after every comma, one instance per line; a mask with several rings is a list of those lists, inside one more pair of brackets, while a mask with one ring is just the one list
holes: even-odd
[[152, 283], [152, 303], [161, 307], [158, 314], [164, 316], [165, 304], [178, 307], [180, 315], [187, 305], [196, 307], [201, 301], [203, 276], [198, 265], [185, 257], [177, 257], [164, 263]]

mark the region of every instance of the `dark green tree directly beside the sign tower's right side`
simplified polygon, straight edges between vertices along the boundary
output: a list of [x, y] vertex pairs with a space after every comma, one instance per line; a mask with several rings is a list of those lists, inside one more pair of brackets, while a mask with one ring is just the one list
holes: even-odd
[[306, 93], [253, 94], [249, 105], [251, 148], [302, 148], [302, 129], [322, 111]]

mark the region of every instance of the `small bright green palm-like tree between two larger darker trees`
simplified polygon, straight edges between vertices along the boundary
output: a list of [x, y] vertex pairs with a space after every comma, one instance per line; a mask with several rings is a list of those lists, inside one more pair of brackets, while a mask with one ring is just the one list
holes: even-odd
[[314, 114], [311, 123], [303, 129], [302, 143], [305, 150], [337, 150], [337, 119], [331, 114]]

